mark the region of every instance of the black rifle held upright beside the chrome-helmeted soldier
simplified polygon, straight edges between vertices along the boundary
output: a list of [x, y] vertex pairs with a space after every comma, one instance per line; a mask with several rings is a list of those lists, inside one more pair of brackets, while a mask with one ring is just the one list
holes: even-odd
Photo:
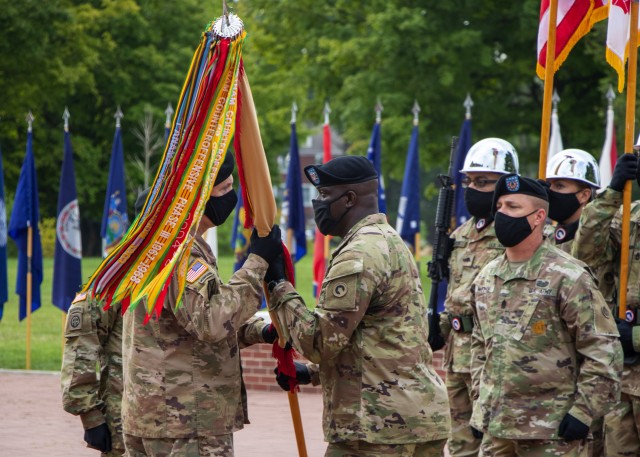
[[435, 233], [433, 237], [433, 255], [427, 264], [427, 271], [431, 279], [431, 293], [429, 295], [429, 345], [431, 350], [442, 349], [445, 344], [440, 334], [440, 314], [438, 314], [438, 285], [449, 277], [449, 256], [451, 255], [451, 215], [455, 191], [453, 189], [453, 163], [458, 137], [451, 137], [451, 155], [449, 157], [448, 175], [438, 175], [440, 192], [438, 193], [438, 206], [436, 207]]

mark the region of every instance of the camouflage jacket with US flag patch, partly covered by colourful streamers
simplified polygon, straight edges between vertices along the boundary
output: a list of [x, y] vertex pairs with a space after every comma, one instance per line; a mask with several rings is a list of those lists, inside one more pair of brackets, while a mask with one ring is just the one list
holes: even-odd
[[[225, 435], [243, 428], [240, 345], [263, 342], [256, 318], [267, 263], [250, 255], [228, 284], [196, 236], [182, 304], [176, 279], [159, 319], [144, 304], [124, 318], [124, 433], [141, 438]], [[239, 344], [240, 342], [240, 344]]]

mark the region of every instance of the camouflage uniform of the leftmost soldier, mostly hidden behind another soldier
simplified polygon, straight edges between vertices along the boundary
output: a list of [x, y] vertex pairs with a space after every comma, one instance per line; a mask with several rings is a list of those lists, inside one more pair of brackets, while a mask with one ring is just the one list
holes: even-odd
[[[120, 305], [102, 304], [78, 295], [67, 313], [60, 371], [62, 407], [80, 416], [85, 429], [106, 423], [111, 443], [124, 451], [122, 401], [122, 317]], [[96, 372], [100, 367], [100, 377]]]

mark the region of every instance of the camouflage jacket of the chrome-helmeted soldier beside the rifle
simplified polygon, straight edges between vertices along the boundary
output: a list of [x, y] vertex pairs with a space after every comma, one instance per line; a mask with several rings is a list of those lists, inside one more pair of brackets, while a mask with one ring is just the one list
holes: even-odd
[[496, 238], [493, 221], [471, 218], [452, 234], [453, 250], [449, 258], [449, 286], [440, 317], [447, 340], [445, 367], [454, 373], [471, 371], [471, 284], [480, 270], [504, 252]]

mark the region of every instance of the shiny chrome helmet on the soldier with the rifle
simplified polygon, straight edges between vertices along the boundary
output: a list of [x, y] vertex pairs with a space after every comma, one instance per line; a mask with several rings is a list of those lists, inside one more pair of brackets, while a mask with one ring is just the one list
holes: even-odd
[[518, 173], [518, 152], [511, 143], [500, 138], [485, 138], [471, 146], [461, 173], [489, 171]]

